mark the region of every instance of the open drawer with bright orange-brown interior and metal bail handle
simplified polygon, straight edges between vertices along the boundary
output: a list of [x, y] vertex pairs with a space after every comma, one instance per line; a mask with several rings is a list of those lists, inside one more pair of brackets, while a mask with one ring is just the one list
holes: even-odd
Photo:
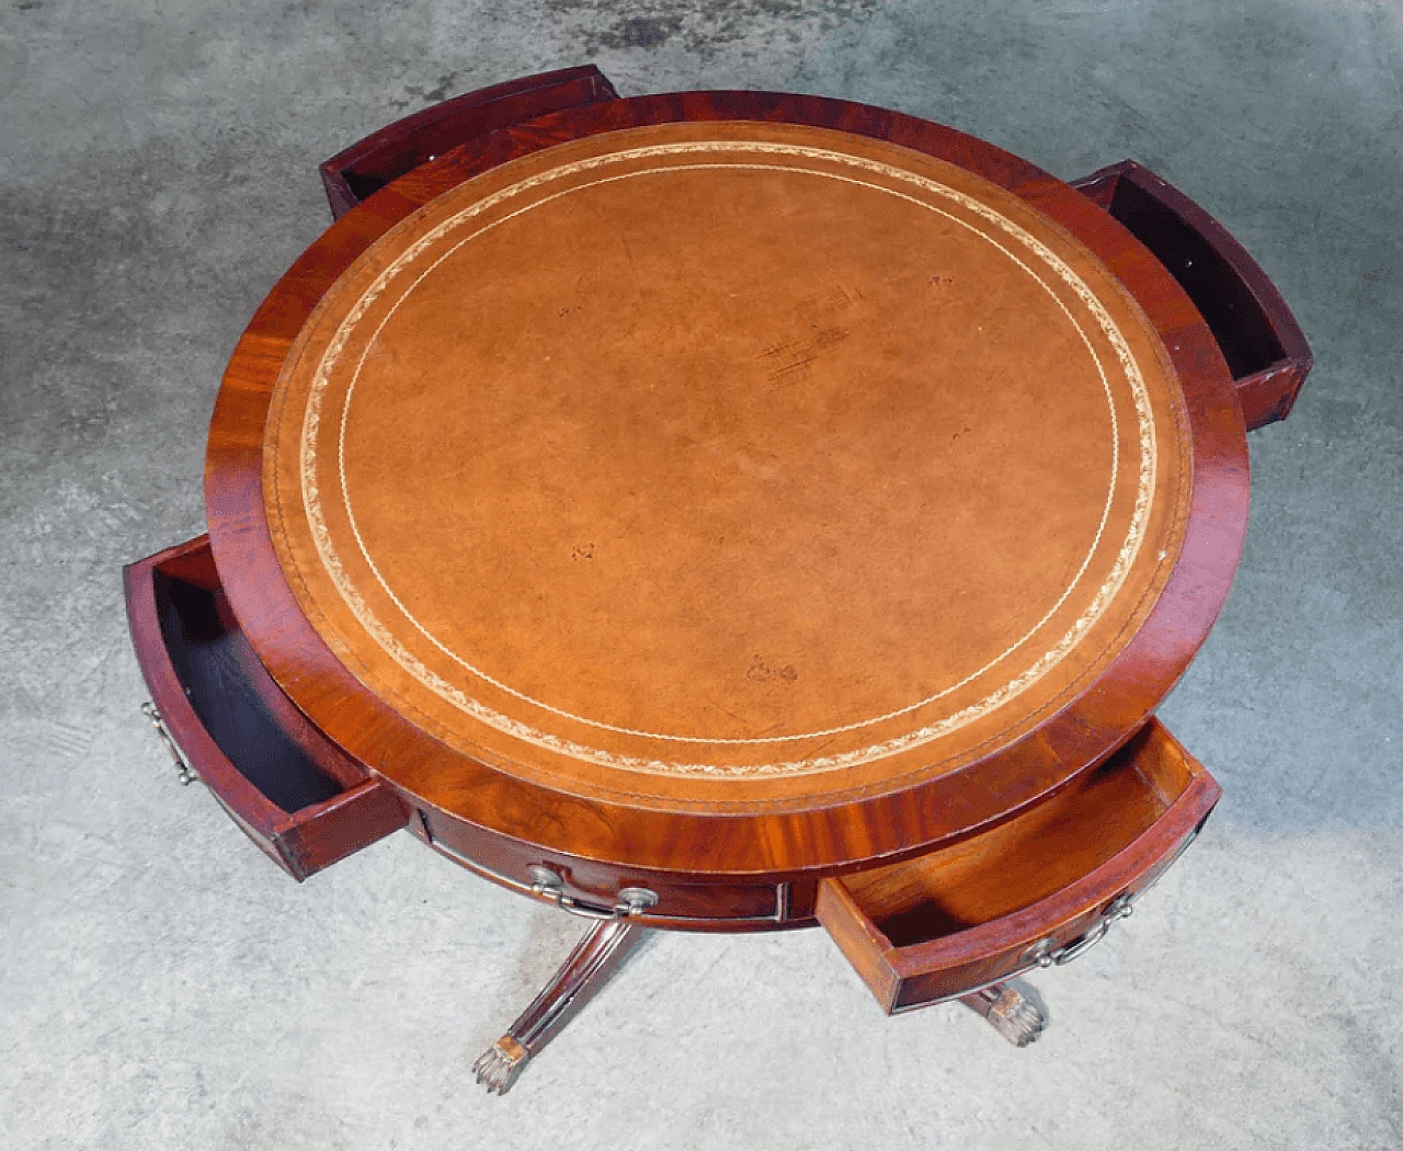
[[1129, 914], [1222, 789], [1150, 720], [998, 827], [819, 883], [817, 915], [888, 1015], [1075, 959]]

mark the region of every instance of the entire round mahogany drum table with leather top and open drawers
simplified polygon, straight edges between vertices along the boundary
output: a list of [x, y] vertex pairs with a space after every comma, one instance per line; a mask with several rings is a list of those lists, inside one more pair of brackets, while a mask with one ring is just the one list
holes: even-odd
[[592, 67], [323, 175], [209, 535], [126, 570], [182, 778], [295, 879], [407, 827], [593, 921], [494, 1091], [648, 928], [821, 924], [1034, 1039], [1009, 980], [1219, 794], [1152, 713], [1310, 364], [1260, 268], [1128, 161]]

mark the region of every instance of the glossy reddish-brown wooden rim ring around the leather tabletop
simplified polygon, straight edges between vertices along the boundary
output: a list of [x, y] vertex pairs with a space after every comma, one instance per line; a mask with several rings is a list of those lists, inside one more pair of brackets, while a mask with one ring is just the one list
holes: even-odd
[[[296, 606], [264, 518], [262, 430], [279, 369], [335, 278], [380, 234], [442, 191], [557, 142], [675, 121], [805, 124], [890, 140], [960, 164], [1038, 208], [1087, 244], [1143, 307], [1170, 357], [1194, 439], [1190, 524], [1169, 587], [1100, 679], [1026, 738], [991, 747], [967, 769], [822, 806], [777, 803], [735, 816], [724, 804], [658, 810], [585, 800], [464, 759], [368, 693]], [[1184, 671], [1221, 609], [1247, 512], [1242, 413], [1218, 345], [1173, 277], [1129, 232], [1047, 173], [950, 128], [846, 101], [762, 93], [687, 93], [572, 108], [492, 132], [439, 156], [349, 212], [304, 253], [234, 351], [210, 427], [206, 511], [234, 612], [278, 684], [340, 745], [377, 768], [449, 764], [470, 780], [474, 810], [431, 820], [490, 823], [494, 834], [581, 860], [779, 883], [892, 860], [969, 835], [1045, 799], [1136, 731]], [[417, 804], [427, 806], [427, 804]], [[662, 911], [662, 908], [659, 908]]]

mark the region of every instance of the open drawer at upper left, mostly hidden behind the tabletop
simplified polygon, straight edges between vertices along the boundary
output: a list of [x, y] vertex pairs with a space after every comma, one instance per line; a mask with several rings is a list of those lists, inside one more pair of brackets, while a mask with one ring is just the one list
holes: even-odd
[[603, 73], [584, 65], [445, 100], [372, 132], [321, 164], [331, 218], [341, 219], [407, 171], [487, 132], [561, 108], [617, 98]]

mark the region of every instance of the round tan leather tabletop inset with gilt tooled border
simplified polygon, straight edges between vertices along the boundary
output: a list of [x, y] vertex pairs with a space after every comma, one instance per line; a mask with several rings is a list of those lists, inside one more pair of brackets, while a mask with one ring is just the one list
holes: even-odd
[[1111, 274], [1010, 194], [666, 125], [384, 236], [289, 357], [264, 481], [307, 618], [424, 730], [745, 807], [950, 771], [1073, 698], [1177, 556], [1181, 408]]

